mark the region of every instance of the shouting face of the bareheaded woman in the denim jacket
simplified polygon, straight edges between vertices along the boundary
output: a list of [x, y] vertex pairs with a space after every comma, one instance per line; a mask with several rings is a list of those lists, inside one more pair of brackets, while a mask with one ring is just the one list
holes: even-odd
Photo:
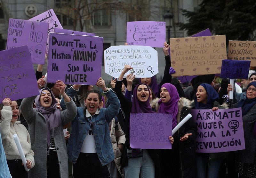
[[93, 115], [100, 105], [100, 99], [98, 94], [90, 93], [85, 100], [85, 104], [89, 113]]

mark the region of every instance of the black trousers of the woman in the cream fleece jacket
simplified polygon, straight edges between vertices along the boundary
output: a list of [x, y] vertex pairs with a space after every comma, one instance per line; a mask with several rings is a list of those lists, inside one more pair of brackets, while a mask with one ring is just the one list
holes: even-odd
[[12, 178], [28, 178], [28, 172], [21, 163], [22, 160], [7, 160]]

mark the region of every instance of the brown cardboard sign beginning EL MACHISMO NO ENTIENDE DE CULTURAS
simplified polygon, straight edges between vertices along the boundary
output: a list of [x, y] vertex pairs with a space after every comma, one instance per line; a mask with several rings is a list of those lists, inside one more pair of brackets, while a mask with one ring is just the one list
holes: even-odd
[[172, 76], [219, 74], [227, 59], [226, 36], [171, 38]]

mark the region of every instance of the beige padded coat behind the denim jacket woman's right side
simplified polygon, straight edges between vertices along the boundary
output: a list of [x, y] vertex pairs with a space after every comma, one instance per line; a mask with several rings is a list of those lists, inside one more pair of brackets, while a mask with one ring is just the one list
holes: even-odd
[[[117, 167], [119, 173], [121, 174], [120, 160], [121, 160], [122, 153], [119, 150], [119, 148], [117, 147], [117, 145], [124, 144], [125, 134], [122, 131], [120, 124], [119, 123], [117, 123], [117, 124], [118, 124], [118, 130], [116, 130], [116, 122], [115, 122], [115, 118], [113, 118], [111, 123], [109, 124], [109, 132], [110, 132], [113, 151], [114, 151], [114, 154], [115, 154], [114, 161], [116, 163], [116, 167]], [[124, 177], [124, 174], [122, 174], [122, 177]]]

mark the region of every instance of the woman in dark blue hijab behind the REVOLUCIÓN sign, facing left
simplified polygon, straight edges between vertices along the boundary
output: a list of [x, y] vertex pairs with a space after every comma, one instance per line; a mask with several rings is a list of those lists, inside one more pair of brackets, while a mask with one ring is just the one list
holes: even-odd
[[[228, 109], [228, 105], [220, 105], [216, 101], [218, 99], [219, 95], [214, 88], [202, 83], [197, 87], [193, 109]], [[223, 153], [196, 153], [197, 178], [217, 178], [221, 160], [224, 158]]]

